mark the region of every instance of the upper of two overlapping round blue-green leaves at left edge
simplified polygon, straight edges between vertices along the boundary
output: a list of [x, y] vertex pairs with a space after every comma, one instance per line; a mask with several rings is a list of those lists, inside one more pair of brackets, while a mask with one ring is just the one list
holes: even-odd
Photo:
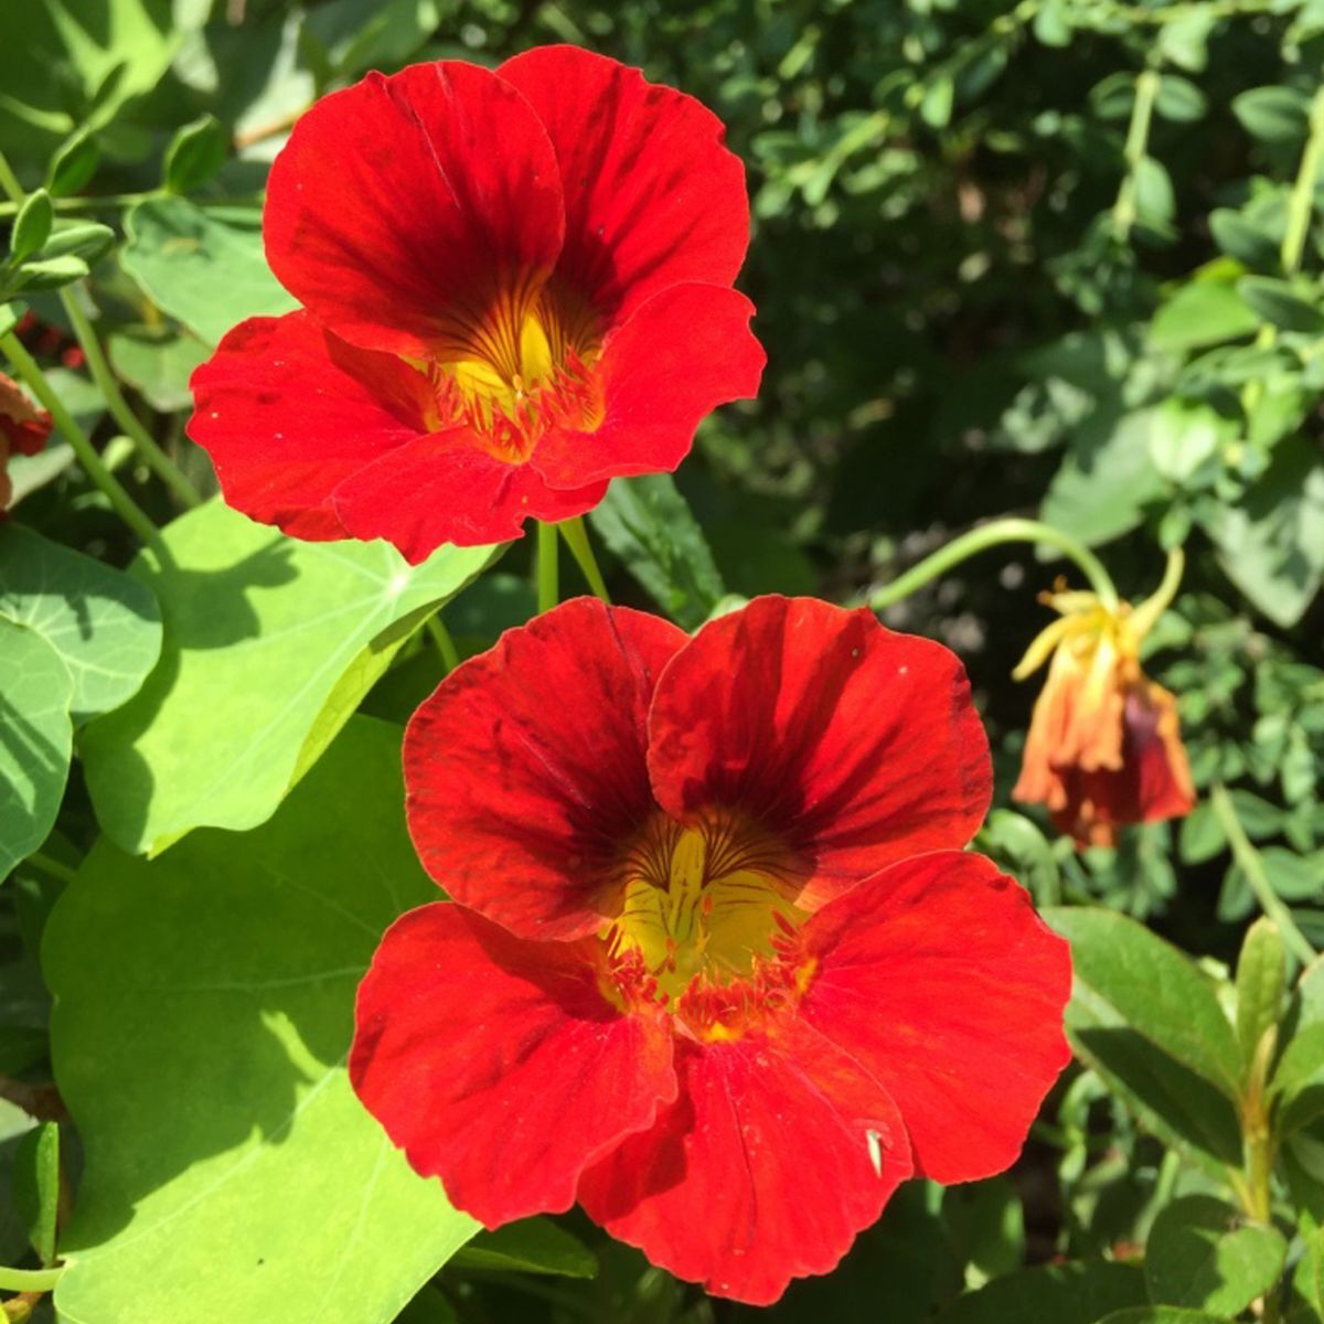
[[0, 617], [58, 654], [75, 724], [131, 699], [160, 655], [151, 589], [21, 524], [0, 524]]

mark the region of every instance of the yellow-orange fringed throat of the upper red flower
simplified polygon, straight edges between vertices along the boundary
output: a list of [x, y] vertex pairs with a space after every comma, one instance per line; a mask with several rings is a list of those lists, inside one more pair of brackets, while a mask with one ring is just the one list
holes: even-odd
[[466, 424], [491, 455], [511, 463], [552, 426], [592, 432], [602, 421], [591, 371], [601, 347], [597, 314], [560, 285], [526, 282], [458, 303], [430, 365], [433, 425]]

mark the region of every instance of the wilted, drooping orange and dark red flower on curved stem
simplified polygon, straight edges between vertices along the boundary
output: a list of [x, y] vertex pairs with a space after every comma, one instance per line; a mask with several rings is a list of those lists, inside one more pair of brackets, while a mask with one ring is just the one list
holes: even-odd
[[1140, 643], [1181, 571], [1181, 552], [1172, 552], [1158, 592], [1135, 608], [1096, 593], [1046, 593], [1062, 614], [1014, 671], [1023, 681], [1053, 658], [1012, 794], [1046, 805], [1082, 845], [1111, 846], [1123, 824], [1180, 818], [1194, 806], [1177, 700], [1140, 667]]

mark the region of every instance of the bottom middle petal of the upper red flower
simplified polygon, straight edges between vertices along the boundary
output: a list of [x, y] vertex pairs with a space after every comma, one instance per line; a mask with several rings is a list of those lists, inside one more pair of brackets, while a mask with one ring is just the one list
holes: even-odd
[[351, 474], [335, 512], [355, 538], [384, 538], [417, 564], [442, 543], [482, 547], [523, 536], [526, 519], [592, 510], [605, 482], [551, 487], [531, 465], [504, 463], [474, 445], [466, 425], [418, 437]]

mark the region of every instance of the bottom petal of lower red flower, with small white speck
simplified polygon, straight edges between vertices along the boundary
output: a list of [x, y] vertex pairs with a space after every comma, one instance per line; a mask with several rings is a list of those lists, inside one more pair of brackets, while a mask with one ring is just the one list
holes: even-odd
[[829, 1272], [911, 1176], [887, 1091], [808, 1026], [682, 1039], [675, 1067], [678, 1102], [584, 1174], [580, 1202], [718, 1296], [763, 1305]]

